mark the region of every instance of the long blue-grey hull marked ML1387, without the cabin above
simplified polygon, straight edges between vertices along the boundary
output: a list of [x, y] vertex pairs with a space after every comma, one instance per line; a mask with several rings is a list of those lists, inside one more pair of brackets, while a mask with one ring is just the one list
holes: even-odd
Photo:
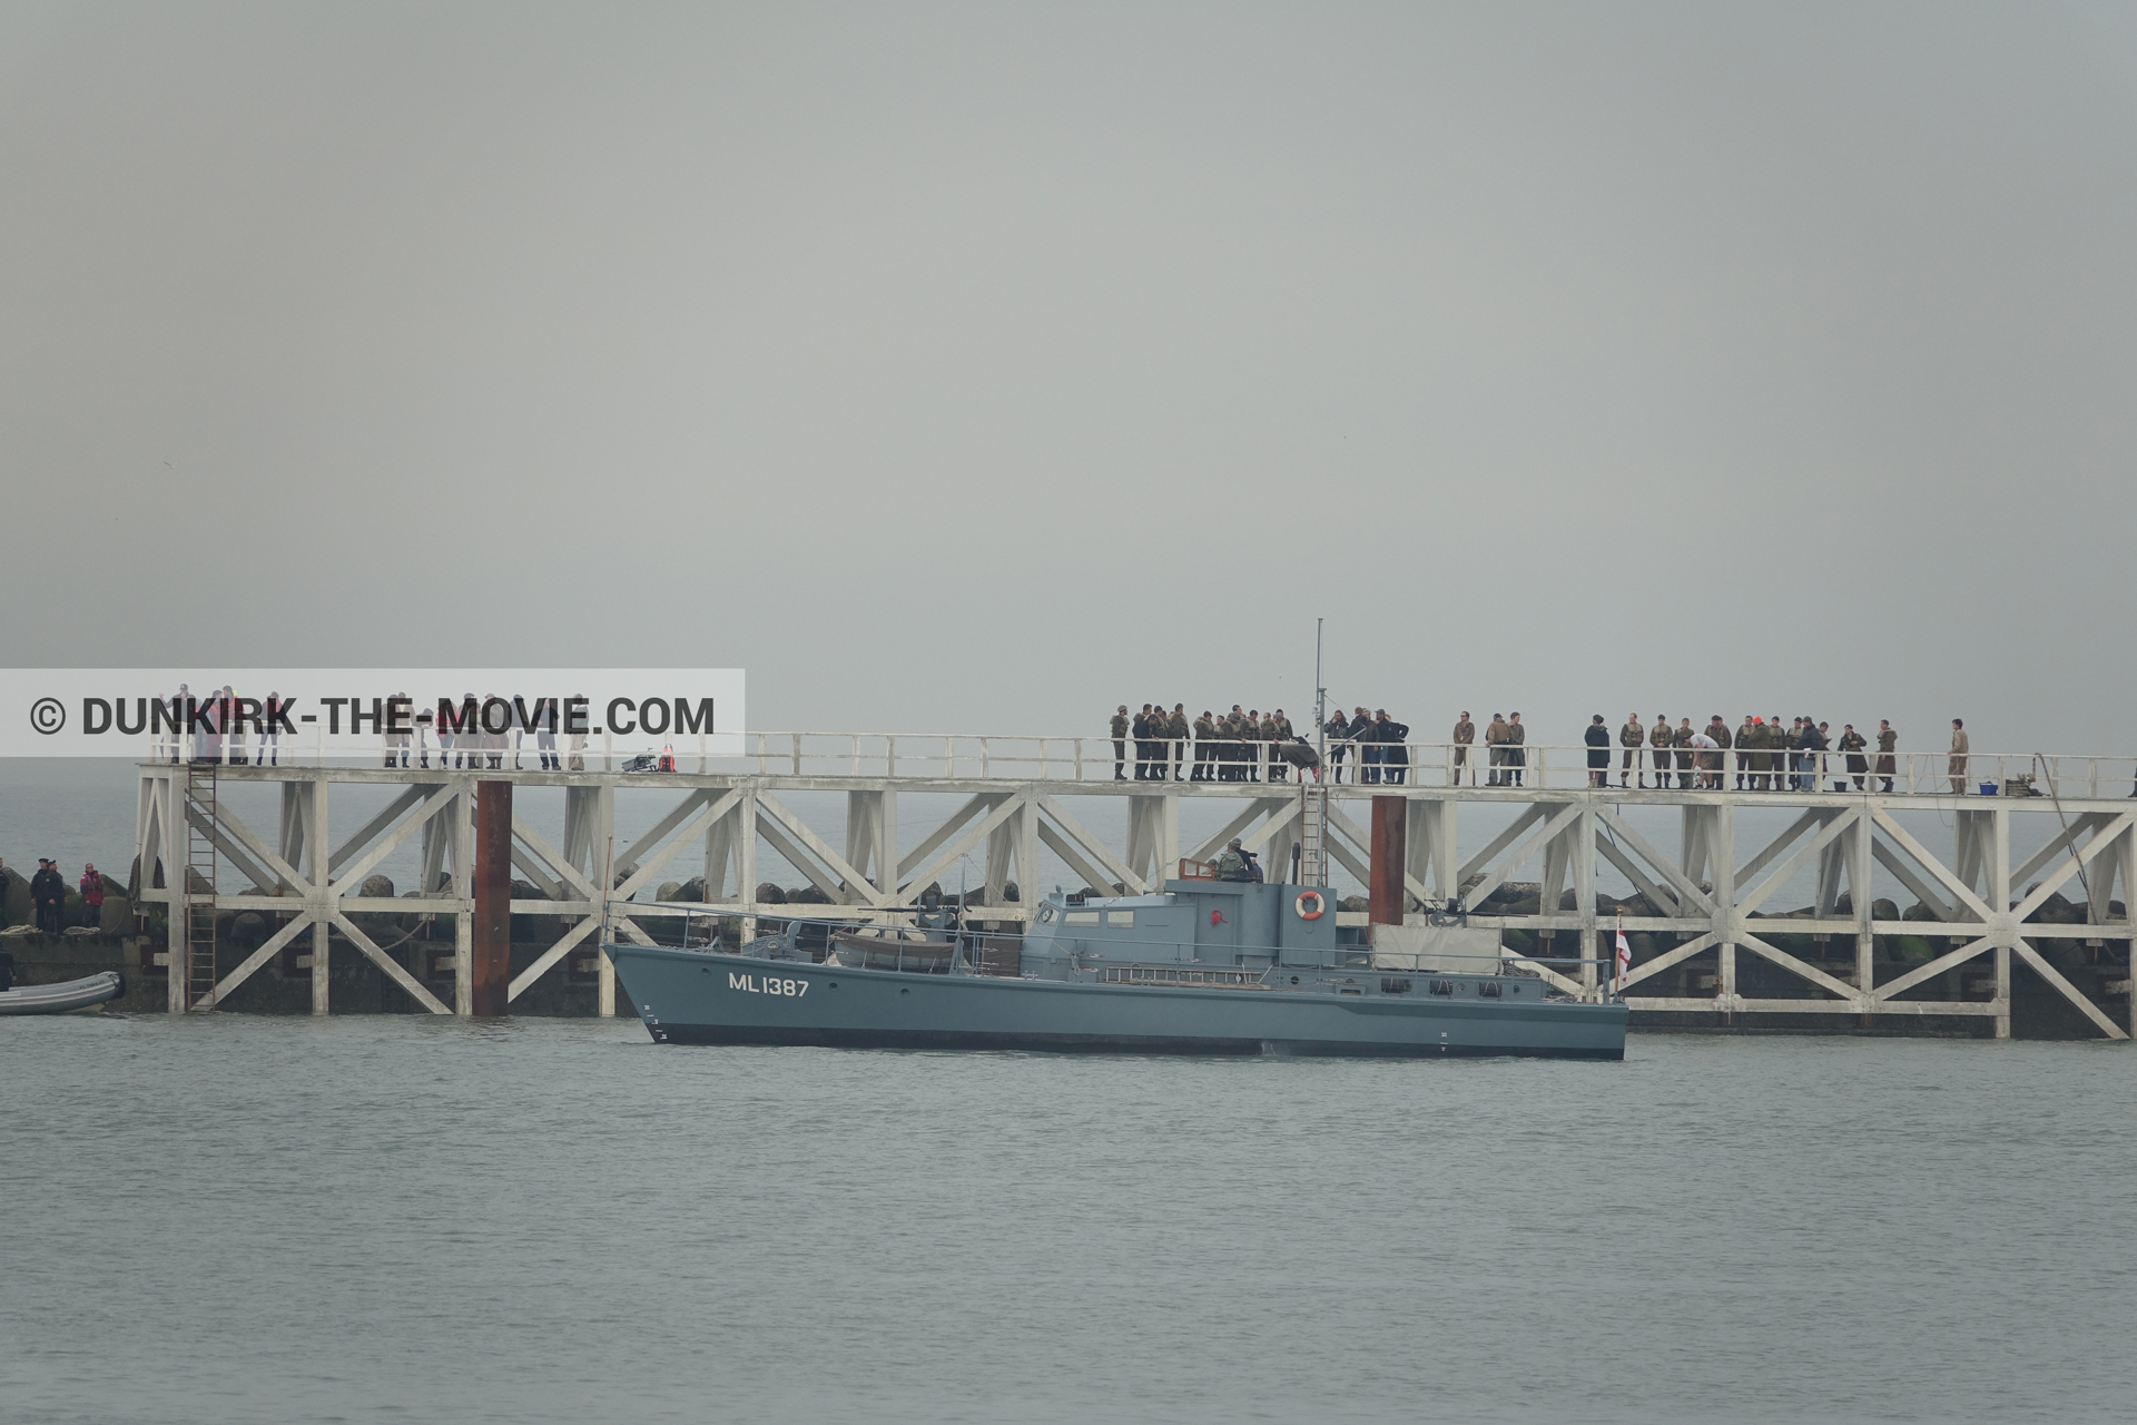
[[645, 1030], [669, 1045], [1624, 1058], [1626, 1008], [1284, 989], [900, 974], [744, 955], [605, 946]]

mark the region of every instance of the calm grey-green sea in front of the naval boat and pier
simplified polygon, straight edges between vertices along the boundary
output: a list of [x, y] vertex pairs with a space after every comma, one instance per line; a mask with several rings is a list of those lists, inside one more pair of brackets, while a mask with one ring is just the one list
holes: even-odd
[[2137, 1419], [2131, 1083], [0, 1021], [0, 1416]]

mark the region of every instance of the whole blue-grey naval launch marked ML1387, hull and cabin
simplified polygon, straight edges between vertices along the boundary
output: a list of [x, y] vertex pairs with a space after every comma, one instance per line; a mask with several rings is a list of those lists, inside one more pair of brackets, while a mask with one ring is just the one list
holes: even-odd
[[1449, 927], [1417, 949], [1415, 934], [1338, 931], [1333, 910], [1316, 887], [1167, 880], [1105, 899], [1056, 889], [1011, 964], [951, 910], [789, 921], [739, 951], [603, 951], [662, 1045], [1624, 1058], [1626, 1006], [1551, 991], [1498, 959], [1498, 931]]

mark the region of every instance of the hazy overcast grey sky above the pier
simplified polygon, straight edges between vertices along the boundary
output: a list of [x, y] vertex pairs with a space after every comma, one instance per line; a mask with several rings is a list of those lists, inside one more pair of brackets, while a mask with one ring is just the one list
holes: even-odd
[[15, 664], [2137, 748], [2128, 6], [0, 9]]

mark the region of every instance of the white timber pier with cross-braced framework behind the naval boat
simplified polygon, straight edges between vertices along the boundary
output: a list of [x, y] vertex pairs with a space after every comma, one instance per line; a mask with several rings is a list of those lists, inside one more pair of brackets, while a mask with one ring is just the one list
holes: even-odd
[[[765, 848], [823, 893], [833, 906], [825, 914], [851, 919], [910, 914], [930, 884], [977, 852], [985, 874], [972, 889], [983, 893], [983, 919], [1019, 925], [1041, 887], [1041, 848], [1081, 884], [1145, 893], [1180, 859], [1207, 859], [1231, 837], [1261, 852], [1272, 878], [1280, 876], [1306, 833], [1316, 848], [1325, 837], [1327, 861], [1372, 884], [1378, 820], [1381, 855], [1400, 844], [1410, 914], [1455, 908], [1470, 925], [1522, 931], [1556, 955], [1588, 961], [1569, 972], [1541, 970], [1566, 993], [1613, 989], [1594, 961], [1609, 957], [1622, 927], [1628, 936], [1671, 942], [1616, 987], [1635, 1011], [1714, 1015], [1722, 1023], [1816, 1015], [1863, 1025], [1878, 1017], [1949, 1015], [1992, 1019], [2005, 1036], [2013, 964], [2022, 964], [2099, 1034], [2128, 1036], [2122, 966], [2131, 944], [2126, 902], [2137, 884], [2133, 758], [1972, 754], [1964, 771], [1968, 793], [1955, 795], [1943, 754], [1904, 758], [1891, 793], [1881, 790], [1883, 776], [1855, 790], [1840, 756], [1825, 754], [1812, 773], [1812, 786], [1823, 790], [1735, 790], [1733, 767], [1725, 769], [1731, 786], [1697, 790], [1590, 786], [1584, 748], [1532, 746], [1524, 786], [1477, 786], [1455, 784], [1455, 776], [1481, 780], [1485, 767], [1464, 769], [1453, 748], [1415, 743], [1406, 748], [1402, 782], [1385, 780], [1385, 765], [1376, 784], [1323, 782], [1323, 814], [1308, 805], [1297, 773], [1280, 776], [1267, 763], [1267, 743], [1259, 743], [1259, 761], [1239, 780], [1122, 782], [1113, 780], [1111, 743], [1094, 737], [752, 733], [750, 739], [754, 750], [746, 758], [707, 763], [686, 754], [682, 761], [695, 763], [688, 771], [622, 771], [613, 750], [575, 754], [583, 767], [539, 769], [532, 748], [479, 754], [481, 767], [145, 763], [137, 884], [143, 908], [167, 910], [169, 1008], [214, 1008], [310, 934], [312, 1013], [325, 1015], [327, 942], [338, 934], [432, 1013], [498, 1013], [528, 985], [560, 972], [566, 957], [588, 957], [603, 923], [613, 936], [650, 942], [656, 929], [673, 934], [677, 917], [697, 917], [701, 927], [705, 917], [739, 917], [748, 934], [754, 917], [791, 914], [756, 899]], [[492, 756], [498, 767], [487, 765]], [[1192, 761], [1182, 758], [1182, 771], [1188, 767]], [[2002, 795], [2026, 793], [2028, 769], [2032, 795]], [[1346, 767], [1348, 776], [1357, 771]], [[1616, 765], [1609, 776], [1618, 776]], [[1983, 795], [1983, 782], [1996, 795]], [[224, 793], [237, 784], [280, 788], [280, 825], [263, 831], [235, 816]], [[385, 810], [331, 844], [329, 799], [361, 784], [395, 790]], [[536, 786], [564, 790], [560, 827], [536, 827], [513, 810], [511, 790]], [[812, 829], [789, 805], [795, 793], [840, 793], [842, 835]], [[910, 846], [900, 842], [900, 795], [927, 795], [947, 808]], [[615, 844], [618, 799], [656, 808], [650, 827], [624, 846]], [[1088, 825], [1101, 799], [1126, 801], [1126, 833], [1118, 842]], [[1205, 818], [1218, 827], [1188, 844], [1180, 812], [1199, 799], [1222, 803]], [[1633, 816], [1637, 808], [1650, 812]], [[1641, 820], [1652, 833], [1652, 808], [1669, 810], [1673, 837], [1656, 840], [1633, 825]], [[1740, 818], [1748, 808], [1782, 808], [1787, 827], [1744, 846]], [[1316, 816], [1325, 820], [1308, 825]], [[1389, 837], [1389, 816], [1400, 818], [1400, 837]], [[1466, 837], [1464, 829], [1479, 823], [1489, 831]], [[365, 897], [363, 880], [410, 840], [419, 842], [423, 867], [419, 893]], [[162, 867], [160, 876], [154, 867]], [[671, 867], [701, 874], [705, 899], [645, 904]], [[1808, 914], [1774, 919], [1772, 897], [1812, 870]], [[1925, 919], [1878, 912], [1872, 889], [1878, 870], [1915, 897], [1913, 912]], [[1534, 887], [1534, 910], [1515, 912], [1502, 889], [1524, 874], [1532, 876], [1522, 884]], [[1607, 874], [1628, 889], [1616, 897], [1631, 902], [1622, 914], [1598, 912], [1598, 878]], [[536, 887], [539, 897], [500, 906], [498, 887], [509, 887], [509, 876]], [[1011, 882], [1019, 882], [1021, 904], [1007, 899]], [[2066, 899], [2066, 889], [2079, 891], [2069, 904], [2081, 908], [2081, 921], [2039, 919], [2052, 897]], [[1891, 902], [1885, 908], [1896, 910]], [[241, 910], [280, 925], [239, 957], [216, 944], [214, 925], [220, 912]], [[451, 917], [451, 1002], [350, 919], [363, 912]], [[500, 985], [500, 966], [509, 961], [494, 942], [506, 934], [506, 914], [562, 917], [568, 925]], [[1366, 919], [1363, 910], [1342, 912], [1344, 923]], [[1784, 936], [1810, 938], [1827, 953], [1806, 957], [1776, 944]], [[1891, 974], [1889, 964], [1874, 964], [1874, 944], [1887, 936], [1938, 938], [1953, 949]], [[2105, 959], [2120, 978], [2096, 976], [2105, 989], [2088, 996], [2056, 966], [2069, 964], [2073, 946]], [[1671, 976], [1707, 955], [1712, 972]], [[1746, 957], [1778, 968], [1797, 989], [1744, 993]], [[607, 959], [594, 959], [607, 1015], [613, 978]], [[1923, 985], [1951, 981], [1947, 972], [1960, 968], [1977, 993], [1921, 998]], [[1883, 983], [1878, 970], [1887, 972]], [[1673, 993], [1656, 993], [1665, 978], [1682, 983]]]

